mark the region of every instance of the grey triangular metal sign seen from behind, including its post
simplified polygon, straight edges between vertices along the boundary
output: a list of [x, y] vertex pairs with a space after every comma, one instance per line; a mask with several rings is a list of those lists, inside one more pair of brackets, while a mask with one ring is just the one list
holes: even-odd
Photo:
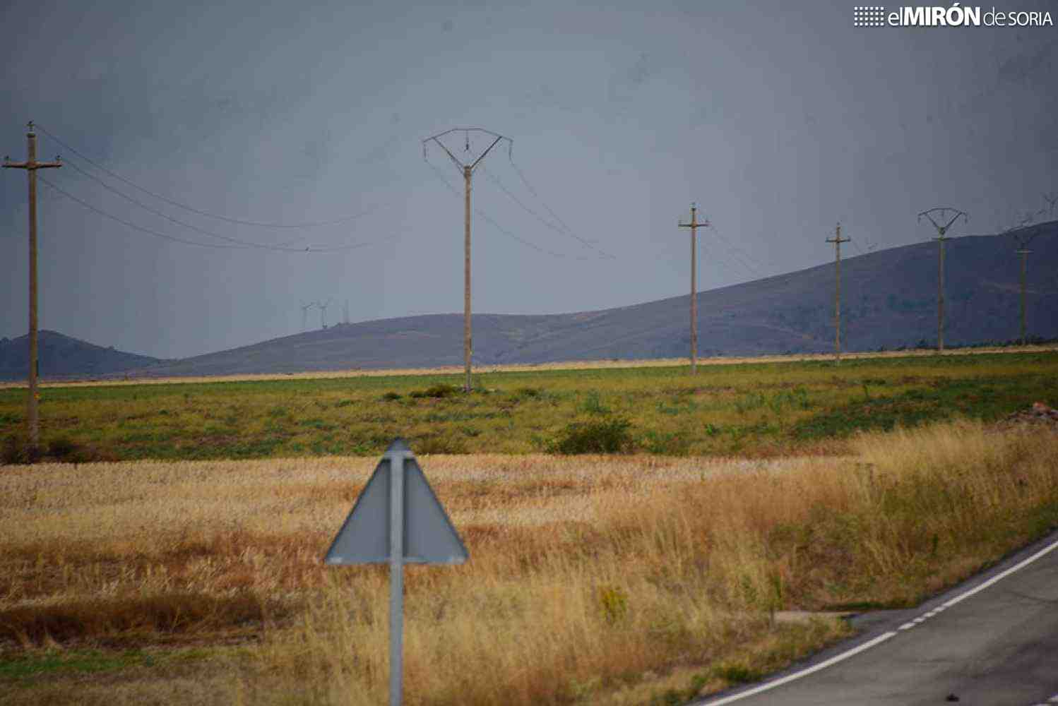
[[404, 564], [462, 563], [470, 558], [415, 454], [397, 439], [357, 498], [324, 561], [389, 564], [389, 704], [401, 703]]

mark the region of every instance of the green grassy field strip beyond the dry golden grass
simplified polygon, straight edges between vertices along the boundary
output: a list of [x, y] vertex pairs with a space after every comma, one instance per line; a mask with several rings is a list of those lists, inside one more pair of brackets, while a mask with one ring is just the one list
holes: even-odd
[[[41, 438], [65, 461], [377, 456], [397, 435], [418, 453], [570, 451], [586, 440], [584, 450], [769, 457], [843, 452], [856, 430], [993, 421], [1058, 403], [1055, 352], [685, 372], [487, 372], [471, 395], [452, 374], [55, 387], [41, 391]], [[0, 389], [10, 461], [24, 398], [24, 389]]]

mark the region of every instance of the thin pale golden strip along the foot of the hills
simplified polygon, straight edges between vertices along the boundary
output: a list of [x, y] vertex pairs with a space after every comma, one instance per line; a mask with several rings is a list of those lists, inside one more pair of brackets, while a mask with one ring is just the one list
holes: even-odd
[[[868, 358], [906, 358], [923, 357], [934, 355], [979, 355], [985, 353], [1053, 353], [1058, 352], [1058, 347], [1053, 345], [1029, 345], [1029, 346], [1005, 346], [997, 348], [959, 348], [948, 349], [942, 352], [915, 349], [908, 351], [874, 351], [874, 352], [845, 352], [842, 358], [850, 360]], [[834, 355], [831, 353], [805, 353], [799, 355], [758, 355], [745, 357], [705, 357], [698, 358], [699, 366], [729, 366], [747, 363], [791, 363], [795, 360], [831, 360]], [[499, 372], [530, 372], [534, 370], [605, 370], [614, 368], [671, 368], [674, 366], [689, 366], [691, 359], [688, 358], [649, 358], [641, 360], [618, 359], [608, 360], [564, 360], [560, 363], [540, 364], [518, 364], [508, 366], [477, 366], [474, 373], [499, 373]], [[127, 378], [86, 378], [77, 380], [45, 380], [41, 387], [92, 387], [98, 385], [172, 385], [177, 383], [242, 383], [254, 380], [279, 380], [279, 379], [332, 379], [342, 377], [388, 377], [397, 375], [454, 375], [462, 374], [461, 366], [441, 366], [437, 368], [393, 368], [380, 370], [362, 370], [354, 368], [351, 370], [317, 370], [302, 373], [254, 373], [241, 375], [198, 375], [198, 376], [177, 376], [177, 377], [139, 377], [135, 373]], [[0, 390], [5, 388], [24, 388], [24, 382], [0, 382]]]

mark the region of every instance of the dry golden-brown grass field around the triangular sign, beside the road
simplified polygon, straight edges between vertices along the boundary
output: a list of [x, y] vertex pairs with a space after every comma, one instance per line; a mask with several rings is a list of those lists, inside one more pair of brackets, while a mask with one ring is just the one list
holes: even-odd
[[[423, 456], [471, 560], [406, 575], [409, 704], [677, 704], [1058, 525], [1058, 438], [850, 456]], [[8, 466], [0, 702], [382, 704], [382, 566], [322, 556], [375, 459]], [[820, 613], [801, 623], [783, 611]]]

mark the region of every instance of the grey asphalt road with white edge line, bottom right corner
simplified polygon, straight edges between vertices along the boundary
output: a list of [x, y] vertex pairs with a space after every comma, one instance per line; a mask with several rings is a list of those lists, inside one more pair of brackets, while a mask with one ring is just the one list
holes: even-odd
[[695, 703], [1058, 704], [1058, 533], [917, 609], [858, 619], [854, 640]]

